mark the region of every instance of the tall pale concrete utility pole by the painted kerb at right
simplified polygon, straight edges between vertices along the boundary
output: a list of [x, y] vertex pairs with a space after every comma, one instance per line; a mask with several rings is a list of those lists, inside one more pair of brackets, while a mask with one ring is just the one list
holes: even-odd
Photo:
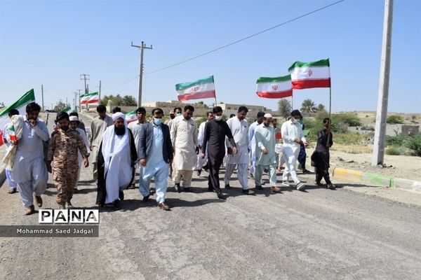
[[385, 137], [387, 103], [389, 99], [390, 52], [392, 49], [393, 0], [385, 0], [385, 20], [383, 22], [382, 58], [380, 61], [380, 85], [375, 116], [373, 160], [371, 165], [382, 165], [385, 160]]

